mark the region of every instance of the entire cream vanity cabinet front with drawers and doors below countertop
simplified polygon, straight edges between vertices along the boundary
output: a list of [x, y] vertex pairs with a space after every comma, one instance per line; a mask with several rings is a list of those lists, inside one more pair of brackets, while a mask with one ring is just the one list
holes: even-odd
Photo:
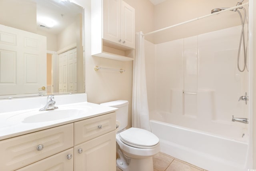
[[0, 171], [112, 171], [116, 169], [116, 114], [0, 141]]

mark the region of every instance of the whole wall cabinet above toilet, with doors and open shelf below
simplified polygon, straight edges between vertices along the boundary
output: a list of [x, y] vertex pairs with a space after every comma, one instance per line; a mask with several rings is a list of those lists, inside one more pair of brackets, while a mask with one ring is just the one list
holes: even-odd
[[123, 0], [92, 1], [92, 55], [134, 59], [135, 10]]

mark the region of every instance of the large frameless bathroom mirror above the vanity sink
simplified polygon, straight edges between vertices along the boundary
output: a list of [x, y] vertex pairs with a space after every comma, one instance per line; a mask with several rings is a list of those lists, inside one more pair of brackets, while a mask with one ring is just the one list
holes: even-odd
[[84, 93], [84, 9], [0, 0], [0, 99]]

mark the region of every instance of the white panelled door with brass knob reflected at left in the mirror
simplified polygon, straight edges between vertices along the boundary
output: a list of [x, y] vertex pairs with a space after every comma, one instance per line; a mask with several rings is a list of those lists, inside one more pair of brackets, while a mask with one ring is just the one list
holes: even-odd
[[0, 95], [46, 85], [46, 37], [0, 24]]

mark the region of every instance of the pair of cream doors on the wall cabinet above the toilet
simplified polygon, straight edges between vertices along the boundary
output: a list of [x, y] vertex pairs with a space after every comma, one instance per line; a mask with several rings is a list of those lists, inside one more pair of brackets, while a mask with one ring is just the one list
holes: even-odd
[[103, 39], [135, 48], [135, 10], [123, 0], [103, 0]]

